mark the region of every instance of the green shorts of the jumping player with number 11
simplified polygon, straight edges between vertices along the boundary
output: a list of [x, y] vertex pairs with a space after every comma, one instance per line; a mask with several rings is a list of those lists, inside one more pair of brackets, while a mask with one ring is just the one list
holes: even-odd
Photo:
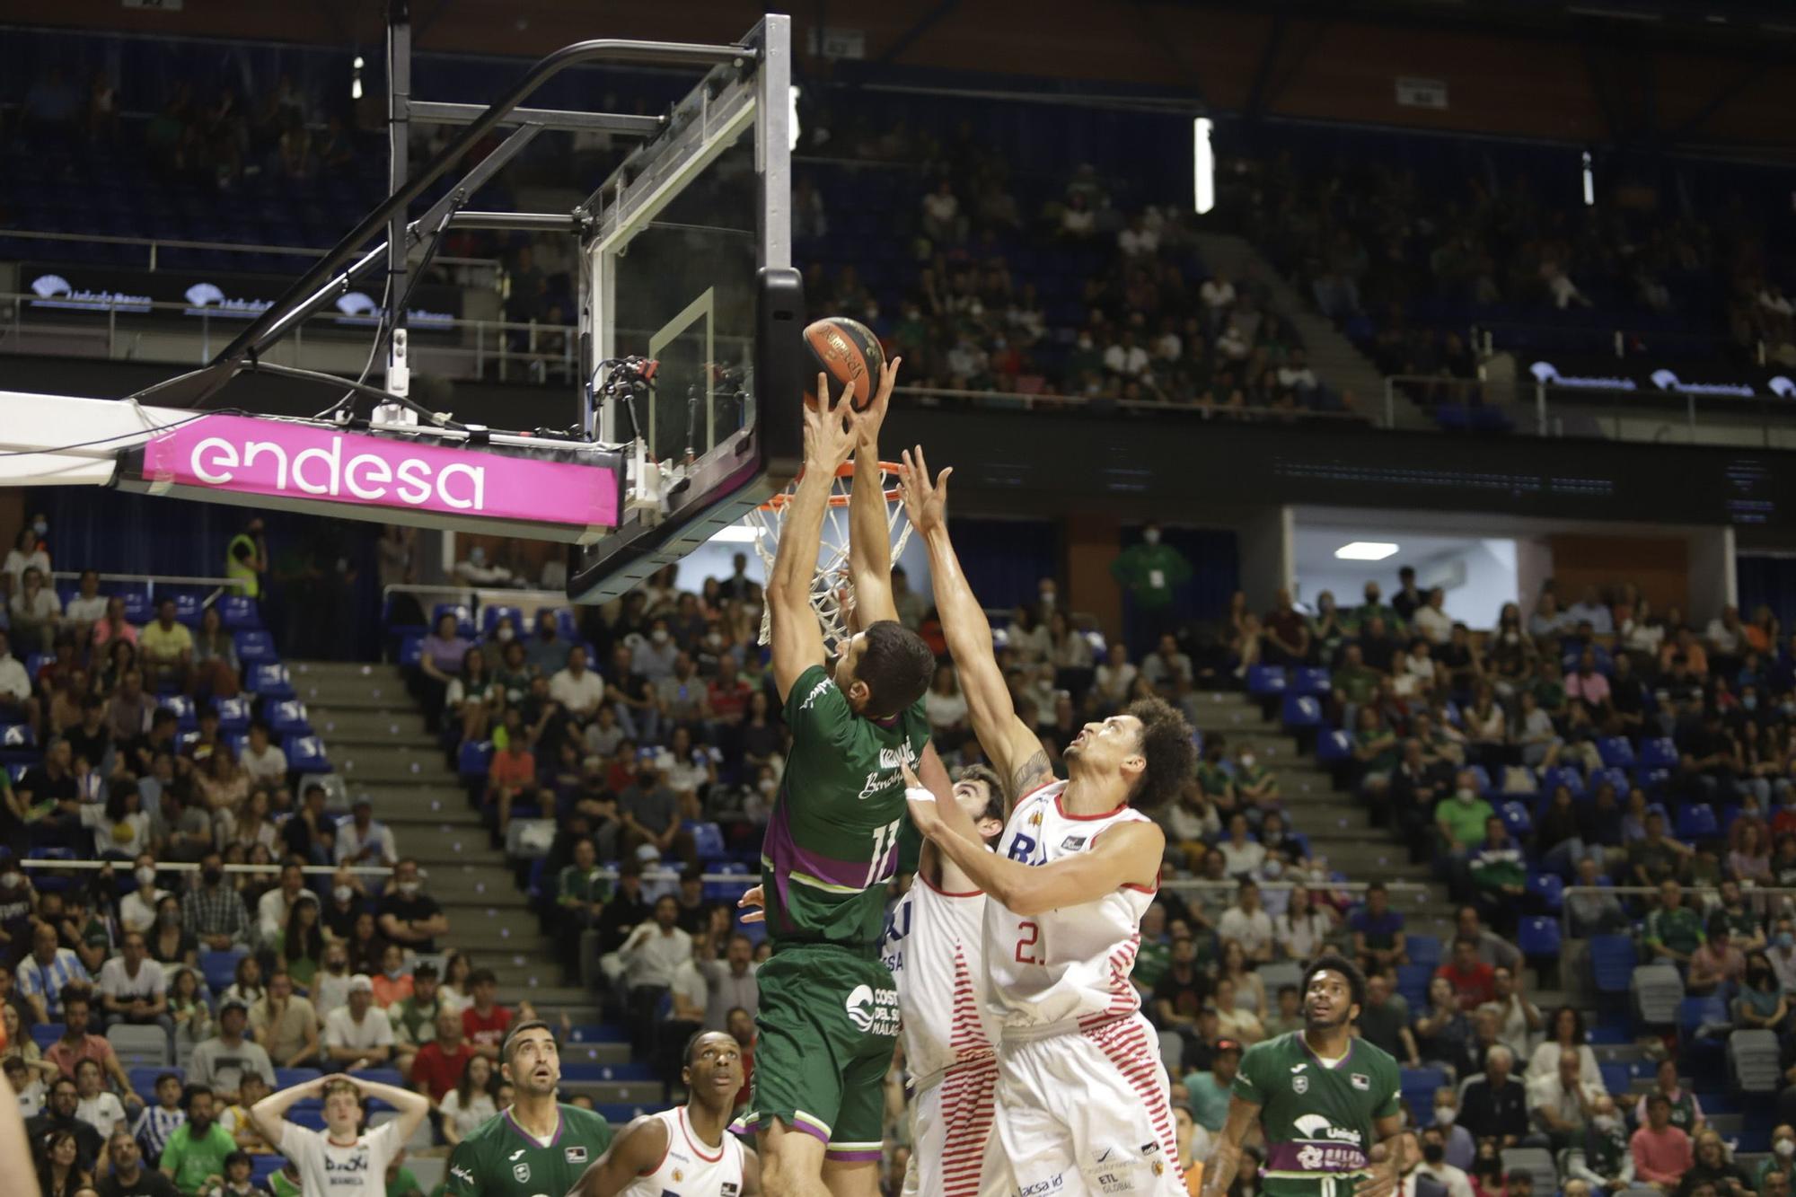
[[885, 1071], [898, 1044], [898, 990], [873, 956], [844, 947], [785, 947], [754, 974], [760, 1037], [754, 1093], [742, 1116], [805, 1130], [828, 1159], [878, 1159]]

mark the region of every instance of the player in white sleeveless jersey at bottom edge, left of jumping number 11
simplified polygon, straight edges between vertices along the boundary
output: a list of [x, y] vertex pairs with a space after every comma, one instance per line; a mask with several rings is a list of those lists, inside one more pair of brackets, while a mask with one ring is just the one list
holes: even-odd
[[729, 1134], [729, 1113], [742, 1087], [742, 1050], [735, 1037], [699, 1032], [688, 1039], [681, 1080], [688, 1102], [630, 1122], [568, 1197], [758, 1197], [760, 1161]]

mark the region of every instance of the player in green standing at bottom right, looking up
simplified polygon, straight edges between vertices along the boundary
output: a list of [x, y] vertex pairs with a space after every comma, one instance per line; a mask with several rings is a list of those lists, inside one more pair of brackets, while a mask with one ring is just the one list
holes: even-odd
[[1266, 1136], [1266, 1197], [1390, 1197], [1403, 1175], [1397, 1060], [1352, 1035], [1365, 978], [1342, 956], [1304, 974], [1304, 1030], [1248, 1048], [1203, 1197], [1221, 1197], [1254, 1122]]

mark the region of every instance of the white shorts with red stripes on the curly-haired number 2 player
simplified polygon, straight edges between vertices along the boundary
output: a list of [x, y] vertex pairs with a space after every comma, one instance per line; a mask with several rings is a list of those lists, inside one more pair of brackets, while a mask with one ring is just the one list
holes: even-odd
[[1011, 1197], [1185, 1197], [1160, 1039], [1140, 1014], [1006, 1041], [993, 1138]]

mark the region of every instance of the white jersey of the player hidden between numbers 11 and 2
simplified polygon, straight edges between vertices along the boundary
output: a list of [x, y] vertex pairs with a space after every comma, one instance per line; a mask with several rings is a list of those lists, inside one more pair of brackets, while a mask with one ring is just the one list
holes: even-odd
[[993, 1055], [984, 917], [984, 893], [946, 893], [923, 873], [885, 917], [880, 960], [898, 987], [903, 1059], [914, 1078]]

